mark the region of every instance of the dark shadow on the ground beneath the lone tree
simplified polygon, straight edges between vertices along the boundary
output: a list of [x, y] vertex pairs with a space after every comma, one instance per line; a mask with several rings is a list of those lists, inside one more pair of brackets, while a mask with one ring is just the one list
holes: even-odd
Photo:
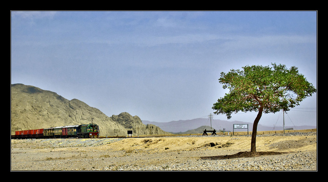
[[232, 155], [217, 155], [217, 156], [206, 156], [206, 157], [200, 157], [203, 160], [223, 160], [223, 159], [229, 159], [229, 158], [241, 158], [241, 157], [257, 157], [261, 155], [278, 155], [278, 154], [284, 154], [284, 153], [290, 153], [290, 152], [238, 152]]

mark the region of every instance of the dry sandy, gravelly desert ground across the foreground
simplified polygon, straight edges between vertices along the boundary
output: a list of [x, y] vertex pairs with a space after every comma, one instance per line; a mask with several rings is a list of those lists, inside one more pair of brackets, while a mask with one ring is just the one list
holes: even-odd
[[[317, 171], [316, 132], [11, 140], [11, 171]], [[261, 154], [262, 152], [266, 152]], [[278, 153], [280, 152], [280, 153]]]

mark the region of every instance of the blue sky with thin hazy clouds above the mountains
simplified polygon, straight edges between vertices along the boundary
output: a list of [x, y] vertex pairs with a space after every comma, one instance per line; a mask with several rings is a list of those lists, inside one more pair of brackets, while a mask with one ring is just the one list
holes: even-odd
[[[316, 11], [11, 12], [11, 83], [81, 100], [109, 117], [208, 118], [229, 92], [221, 72], [271, 63], [298, 67], [317, 87]], [[316, 108], [313, 94], [285, 124], [316, 126]], [[238, 112], [230, 121], [256, 115]], [[259, 124], [281, 126], [281, 112], [263, 114]]]

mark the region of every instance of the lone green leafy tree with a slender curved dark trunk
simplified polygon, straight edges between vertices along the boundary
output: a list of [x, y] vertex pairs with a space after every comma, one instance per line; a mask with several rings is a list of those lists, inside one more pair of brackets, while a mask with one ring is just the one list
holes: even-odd
[[286, 112], [312, 96], [316, 88], [298, 73], [295, 66], [286, 69], [285, 65], [272, 63], [272, 67], [253, 65], [242, 69], [221, 73], [219, 82], [230, 92], [219, 98], [212, 109], [217, 115], [226, 114], [228, 119], [238, 111], [258, 111], [251, 141], [251, 152], [256, 152], [257, 124], [262, 112]]

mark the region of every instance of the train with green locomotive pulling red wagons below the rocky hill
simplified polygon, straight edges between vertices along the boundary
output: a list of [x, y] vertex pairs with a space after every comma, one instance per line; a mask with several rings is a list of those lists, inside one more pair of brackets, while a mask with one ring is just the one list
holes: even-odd
[[99, 126], [93, 123], [15, 131], [11, 139], [98, 138]]

